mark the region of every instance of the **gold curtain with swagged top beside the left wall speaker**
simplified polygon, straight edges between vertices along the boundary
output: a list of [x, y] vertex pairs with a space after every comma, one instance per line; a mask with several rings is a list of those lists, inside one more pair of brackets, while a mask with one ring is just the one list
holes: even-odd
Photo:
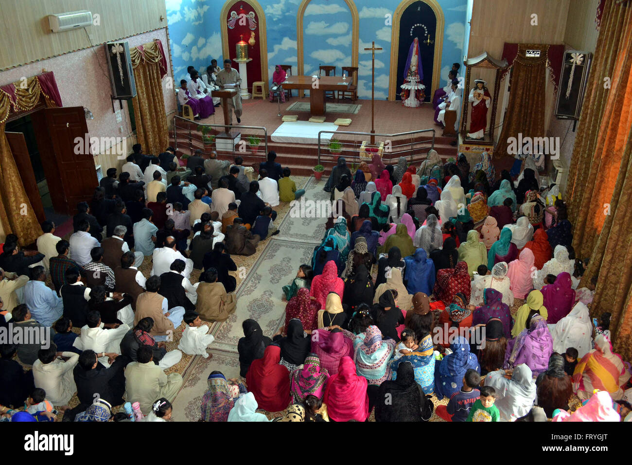
[[143, 152], [159, 154], [169, 145], [157, 42], [130, 49], [137, 96], [133, 98], [136, 136]]

